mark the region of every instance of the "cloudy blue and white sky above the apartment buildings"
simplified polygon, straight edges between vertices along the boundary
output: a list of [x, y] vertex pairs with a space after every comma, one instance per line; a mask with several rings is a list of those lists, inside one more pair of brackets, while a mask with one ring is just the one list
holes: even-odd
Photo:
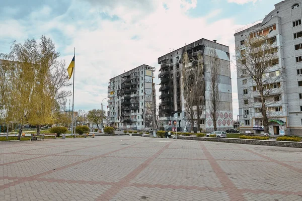
[[[230, 46], [233, 56], [235, 30], [263, 19], [278, 2], [1, 0], [0, 52], [8, 53], [14, 40], [22, 43], [46, 35], [54, 41], [60, 59], [69, 64], [75, 47], [74, 109], [89, 111], [101, 108], [109, 78], [141, 64], [156, 67], [157, 78], [157, 58], [185, 43], [215, 39]], [[235, 64], [231, 66], [237, 119], [237, 75]], [[158, 79], [156, 83], [160, 83]], [[105, 100], [103, 105], [107, 106]]]

